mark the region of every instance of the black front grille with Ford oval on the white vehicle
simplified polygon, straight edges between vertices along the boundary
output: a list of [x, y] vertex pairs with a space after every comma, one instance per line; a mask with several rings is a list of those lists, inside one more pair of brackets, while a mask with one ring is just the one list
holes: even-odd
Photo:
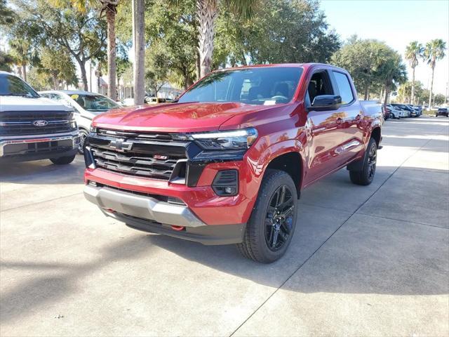
[[[34, 125], [35, 121], [44, 121]], [[0, 136], [29, 136], [76, 130], [73, 112], [5, 111], [0, 112]]]

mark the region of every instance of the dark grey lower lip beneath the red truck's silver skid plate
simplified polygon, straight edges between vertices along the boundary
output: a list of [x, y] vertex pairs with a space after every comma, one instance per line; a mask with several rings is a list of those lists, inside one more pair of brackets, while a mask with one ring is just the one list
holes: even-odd
[[107, 216], [126, 223], [128, 227], [142, 232], [168, 235], [179, 239], [199, 242], [206, 245], [239, 244], [243, 242], [243, 233], [246, 224], [237, 225], [204, 225], [199, 227], [185, 227], [183, 230], [173, 230], [170, 225], [163, 225], [151, 220], [144, 220], [127, 216], [123, 213], [109, 213], [102, 210]]

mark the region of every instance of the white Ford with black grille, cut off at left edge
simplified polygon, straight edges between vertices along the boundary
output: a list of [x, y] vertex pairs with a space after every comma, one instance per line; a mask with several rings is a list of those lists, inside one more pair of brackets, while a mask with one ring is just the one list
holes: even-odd
[[69, 164], [79, 145], [74, 110], [42, 98], [19, 77], [0, 72], [0, 162], [50, 159]]

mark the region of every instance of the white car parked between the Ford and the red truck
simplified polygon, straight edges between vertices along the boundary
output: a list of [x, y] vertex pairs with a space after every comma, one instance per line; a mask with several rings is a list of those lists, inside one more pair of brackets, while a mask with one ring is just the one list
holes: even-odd
[[42, 97], [50, 98], [58, 103], [73, 107], [76, 124], [79, 128], [79, 152], [83, 153], [83, 146], [91, 128], [93, 117], [109, 110], [121, 107], [118, 103], [99, 93], [79, 90], [48, 90], [39, 91]]

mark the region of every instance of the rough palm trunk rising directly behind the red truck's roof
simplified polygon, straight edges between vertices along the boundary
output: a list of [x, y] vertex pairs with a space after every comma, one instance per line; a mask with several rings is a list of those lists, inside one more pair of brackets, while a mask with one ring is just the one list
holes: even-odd
[[200, 76], [205, 77], [212, 65], [217, 0], [196, 0], [196, 15], [199, 20]]

